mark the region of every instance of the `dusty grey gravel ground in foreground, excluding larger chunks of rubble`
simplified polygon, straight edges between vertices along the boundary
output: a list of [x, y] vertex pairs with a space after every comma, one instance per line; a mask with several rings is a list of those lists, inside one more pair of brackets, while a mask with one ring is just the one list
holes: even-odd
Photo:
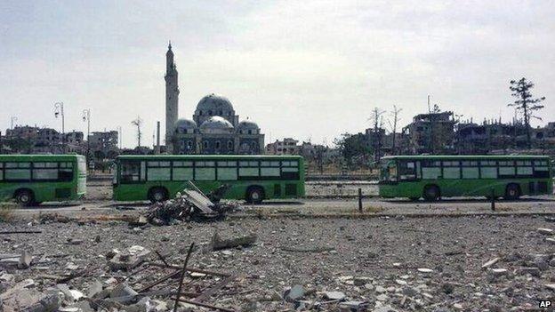
[[[3, 269], [0, 280], [9, 274], [13, 279], [2, 282], [1, 289], [5, 294], [17, 282], [32, 279], [34, 284], [24, 289], [44, 293], [56, 285], [56, 276], [84, 269], [83, 276], [68, 281], [69, 287], [86, 294], [93, 281], [109, 288], [128, 277], [125, 283], [138, 291], [170, 271], [150, 268], [135, 275], [114, 271], [107, 265], [110, 251], [141, 245], [166, 255], [171, 264], [182, 265], [189, 244], [196, 243], [199, 248], [192, 253], [189, 267], [237, 274], [205, 301], [237, 311], [317, 309], [311, 305], [329, 301], [324, 292], [331, 291], [343, 292], [345, 300], [366, 302], [370, 311], [522, 310], [554, 297], [550, 284], [555, 283], [555, 244], [546, 241], [549, 231], [537, 230], [553, 228], [555, 224], [548, 220], [536, 216], [288, 218], [139, 228], [115, 221], [4, 224], [3, 230], [41, 233], [0, 237], [2, 253], [33, 255], [30, 268]], [[253, 233], [257, 240], [251, 246], [213, 252], [207, 246], [216, 231], [222, 237]], [[489, 268], [481, 268], [495, 258], [499, 260]], [[157, 256], [151, 252], [149, 260]], [[190, 281], [186, 277], [183, 292], [202, 291], [187, 286]], [[206, 277], [202, 281], [209, 282]], [[174, 290], [177, 284], [174, 278], [153, 290]], [[302, 289], [303, 294], [291, 302], [284, 300], [286, 290], [295, 285], [301, 285], [296, 290]], [[169, 296], [150, 297], [160, 300], [154, 302], [161, 307], [172, 306]], [[4, 298], [4, 306], [12, 302]], [[75, 306], [70, 300], [63, 305]], [[339, 310], [340, 304], [334, 301], [319, 309]]]

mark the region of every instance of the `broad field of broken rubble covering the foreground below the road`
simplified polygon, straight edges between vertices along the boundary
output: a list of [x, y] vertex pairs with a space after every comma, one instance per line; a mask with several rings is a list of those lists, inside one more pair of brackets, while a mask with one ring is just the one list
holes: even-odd
[[[429, 232], [396, 229], [421, 222]], [[166, 311], [175, 300], [180, 311], [500, 311], [517, 304], [513, 310], [525, 310], [555, 293], [555, 257], [536, 231], [541, 222], [234, 219], [145, 225], [140, 232], [121, 221], [71, 222], [65, 232], [56, 224], [36, 225], [43, 238], [0, 241], [0, 260], [17, 262], [22, 250], [34, 256], [30, 268], [0, 267], [0, 300], [4, 311], [6, 305], [44, 309], [48, 302], [60, 312]], [[492, 228], [503, 230], [492, 236]], [[68, 244], [69, 237], [83, 243]], [[191, 241], [202, 248], [182, 275]], [[213, 241], [223, 249], [213, 252]], [[317, 251], [328, 246], [335, 252]], [[452, 251], [459, 253], [446, 255]]]

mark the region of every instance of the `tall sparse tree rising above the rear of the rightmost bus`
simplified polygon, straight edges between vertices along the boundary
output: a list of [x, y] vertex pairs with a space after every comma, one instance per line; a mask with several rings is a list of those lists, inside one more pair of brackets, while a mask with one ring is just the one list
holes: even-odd
[[509, 89], [513, 92], [511, 95], [518, 100], [508, 104], [508, 106], [514, 107], [524, 117], [524, 126], [527, 132], [527, 148], [532, 147], [532, 140], [530, 138], [530, 118], [542, 120], [539, 116], [535, 116], [534, 112], [544, 108], [543, 105], [538, 103], [545, 100], [545, 97], [534, 99], [531, 92], [533, 88], [534, 83], [527, 81], [525, 77], [522, 77], [519, 81], [511, 80], [511, 86], [509, 86]]

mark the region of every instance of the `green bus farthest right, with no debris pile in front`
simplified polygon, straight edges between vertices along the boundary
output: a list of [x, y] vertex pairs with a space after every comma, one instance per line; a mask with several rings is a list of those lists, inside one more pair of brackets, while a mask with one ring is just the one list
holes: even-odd
[[380, 196], [386, 198], [518, 199], [553, 192], [549, 156], [386, 156], [380, 166]]

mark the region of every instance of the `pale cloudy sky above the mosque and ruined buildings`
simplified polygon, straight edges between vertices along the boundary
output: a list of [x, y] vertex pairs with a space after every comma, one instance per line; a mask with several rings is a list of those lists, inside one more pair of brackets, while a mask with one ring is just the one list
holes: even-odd
[[[417, 4], [417, 5], [416, 5]], [[165, 122], [165, 52], [179, 71], [180, 117], [198, 100], [227, 97], [269, 143], [284, 137], [332, 144], [364, 132], [373, 108], [399, 124], [431, 103], [462, 115], [510, 121], [509, 81], [527, 77], [554, 121], [552, 1], [0, 1], [0, 129], [66, 132], [143, 120], [151, 146]]]

